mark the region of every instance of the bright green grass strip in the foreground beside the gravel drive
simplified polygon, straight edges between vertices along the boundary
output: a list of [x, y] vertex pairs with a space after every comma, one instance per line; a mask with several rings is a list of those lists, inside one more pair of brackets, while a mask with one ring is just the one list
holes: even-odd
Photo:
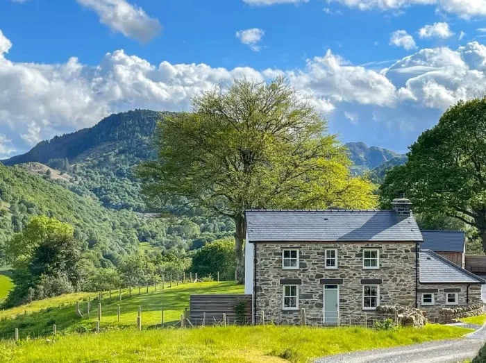
[[470, 330], [428, 325], [423, 329], [288, 326], [121, 330], [0, 345], [8, 362], [309, 362], [324, 355], [457, 338]]

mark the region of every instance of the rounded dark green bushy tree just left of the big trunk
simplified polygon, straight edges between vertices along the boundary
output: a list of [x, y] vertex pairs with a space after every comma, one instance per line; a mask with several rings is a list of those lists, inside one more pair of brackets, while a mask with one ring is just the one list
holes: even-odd
[[219, 239], [205, 244], [192, 256], [191, 271], [201, 276], [234, 276], [236, 268], [235, 239]]

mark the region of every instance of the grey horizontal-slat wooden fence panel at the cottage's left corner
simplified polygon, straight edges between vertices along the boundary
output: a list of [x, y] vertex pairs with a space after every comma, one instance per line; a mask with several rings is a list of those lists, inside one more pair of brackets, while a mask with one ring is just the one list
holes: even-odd
[[212, 325], [222, 322], [226, 314], [226, 321], [233, 324], [238, 320], [235, 305], [241, 301], [244, 301], [244, 322], [240, 323], [251, 323], [251, 295], [243, 294], [191, 295], [190, 320], [194, 325], [202, 325], [206, 316], [206, 325]]

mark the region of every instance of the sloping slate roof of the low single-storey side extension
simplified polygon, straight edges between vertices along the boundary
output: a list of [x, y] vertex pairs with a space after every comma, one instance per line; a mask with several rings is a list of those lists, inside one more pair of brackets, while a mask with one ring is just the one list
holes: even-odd
[[457, 264], [430, 250], [420, 251], [419, 280], [421, 283], [486, 283]]

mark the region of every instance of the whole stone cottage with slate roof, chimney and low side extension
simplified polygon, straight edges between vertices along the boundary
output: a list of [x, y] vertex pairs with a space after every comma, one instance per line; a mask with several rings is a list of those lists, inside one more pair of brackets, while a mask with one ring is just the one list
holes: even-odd
[[246, 211], [245, 293], [253, 319], [337, 324], [378, 305], [419, 308], [480, 301], [485, 280], [430, 250], [408, 199], [392, 210]]

